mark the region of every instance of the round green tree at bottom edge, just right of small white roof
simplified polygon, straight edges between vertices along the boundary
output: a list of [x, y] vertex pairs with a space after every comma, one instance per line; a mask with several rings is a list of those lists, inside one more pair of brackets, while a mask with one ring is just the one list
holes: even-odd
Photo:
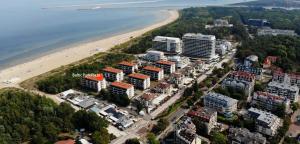
[[93, 144], [108, 144], [110, 141], [110, 135], [106, 129], [100, 129], [92, 134]]

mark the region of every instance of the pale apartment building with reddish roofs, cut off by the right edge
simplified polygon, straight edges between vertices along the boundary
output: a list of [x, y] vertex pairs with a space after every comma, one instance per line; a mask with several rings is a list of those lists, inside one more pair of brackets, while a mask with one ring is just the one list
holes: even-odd
[[298, 88], [300, 88], [300, 74], [298, 73], [284, 73], [282, 71], [275, 71], [273, 73], [272, 80], [279, 83], [287, 83], [292, 86], [298, 86]]

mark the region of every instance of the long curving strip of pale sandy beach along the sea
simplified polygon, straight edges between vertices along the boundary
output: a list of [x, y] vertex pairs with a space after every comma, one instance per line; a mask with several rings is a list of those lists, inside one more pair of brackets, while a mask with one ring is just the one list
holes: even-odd
[[77, 46], [66, 48], [62, 51], [42, 56], [32, 61], [1, 70], [0, 88], [18, 87], [18, 84], [26, 79], [38, 76], [63, 65], [68, 65], [81, 59], [90, 57], [96, 53], [105, 52], [115, 45], [124, 43], [129, 41], [131, 38], [141, 36], [147, 31], [171, 23], [179, 17], [179, 13], [176, 10], [168, 10], [168, 13], [169, 16], [167, 19], [148, 27], [93, 42], [79, 44]]

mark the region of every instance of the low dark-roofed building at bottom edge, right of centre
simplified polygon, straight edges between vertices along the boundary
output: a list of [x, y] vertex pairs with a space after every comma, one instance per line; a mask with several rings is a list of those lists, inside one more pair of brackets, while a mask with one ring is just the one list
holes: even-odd
[[229, 128], [230, 144], [266, 144], [267, 139], [260, 133], [250, 132], [246, 128]]

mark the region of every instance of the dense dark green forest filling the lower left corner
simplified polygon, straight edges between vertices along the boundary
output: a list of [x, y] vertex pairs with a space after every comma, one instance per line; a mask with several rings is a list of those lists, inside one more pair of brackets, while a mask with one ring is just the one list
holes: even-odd
[[57, 105], [51, 99], [19, 89], [0, 90], [1, 144], [50, 144], [74, 138], [75, 129], [81, 128], [92, 134], [101, 132], [97, 139], [108, 143], [107, 126], [108, 122], [96, 113], [75, 112], [67, 103]]

